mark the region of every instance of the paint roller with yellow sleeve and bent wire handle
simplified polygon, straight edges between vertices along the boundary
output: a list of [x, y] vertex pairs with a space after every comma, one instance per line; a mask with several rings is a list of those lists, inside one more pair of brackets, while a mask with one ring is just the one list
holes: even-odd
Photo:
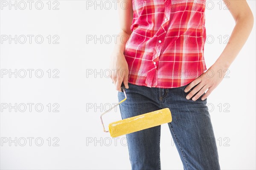
[[[118, 106], [122, 102], [124, 102], [127, 99], [126, 93], [125, 93], [125, 85], [122, 83], [121, 90], [125, 95], [125, 98], [120, 101], [118, 104], [114, 105], [111, 107], [113, 109], [114, 107]], [[118, 137], [121, 135], [129, 134], [129, 133], [134, 133], [140, 130], [148, 129], [150, 127], [156, 127], [161, 124], [169, 123], [172, 121], [172, 114], [169, 108], [164, 108], [160, 110], [156, 110], [153, 112], [148, 112], [144, 113], [141, 115], [137, 115], [131, 118], [125, 118], [120, 121], [115, 121], [111, 124], [108, 125], [108, 131], [105, 130], [103, 121], [102, 121], [102, 116], [105, 115], [107, 112], [111, 111], [108, 110], [100, 116], [102, 126], [103, 126], [103, 131], [104, 132], [109, 132], [111, 137]]]

